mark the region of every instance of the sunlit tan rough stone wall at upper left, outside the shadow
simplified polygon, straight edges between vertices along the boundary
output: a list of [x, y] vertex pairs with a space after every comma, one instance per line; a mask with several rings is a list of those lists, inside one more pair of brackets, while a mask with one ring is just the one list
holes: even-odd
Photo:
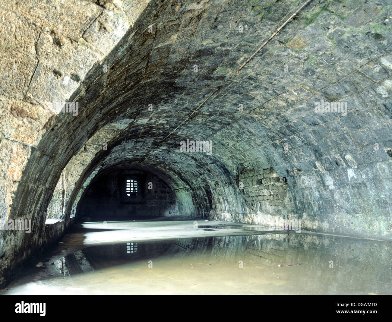
[[[68, 101], [86, 73], [97, 60], [101, 60], [113, 49], [147, 2], [139, 2], [128, 17], [122, 9], [121, 1], [102, 5], [89, 1], [1, 2], [0, 145], [4, 151], [0, 160], [3, 170], [0, 183], [3, 195], [1, 223], [9, 218], [11, 206], [15, 205], [13, 195], [31, 151], [53, 125], [56, 114], [61, 111], [61, 107], [55, 108], [55, 103]], [[86, 32], [93, 30], [94, 22], [99, 22], [104, 28], [94, 30], [94, 37], [88, 38], [87, 35], [92, 33]], [[89, 43], [89, 40], [92, 43]], [[100, 42], [104, 45], [97, 46]], [[42, 160], [39, 161], [42, 167], [53, 163], [45, 153], [36, 160]], [[51, 172], [51, 177], [58, 175], [57, 172]], [[34, 178], [37, 176], [34, 175]], [[40, 231], [44, 229], [42, 219], [46, 217], [49, 202], [42, 198], [44, 195], [51, 196], [54, 190], [54, 187], [48, 190], [48, 186], [50, 184], [45, 181], [40, 181], [38, 186], [25, 186], [29, 193], [34, 190], [38, 199], [25, 209], [22, 216], [31, 219], [35, 206], [43, 216], [41, 221], [36, 221], [34, 236], [40, 235]], [[44, 204], [38, 206], [41, 202]], [[22, 207], [26, 203], [27, 199], [18, 202]], [[49, 213], [54, 213], [55, 210], [60, 211], [61, 207], [49, 206]], [[54, 218], [58, 218], [58, 215]], [[65, 222], [60, 226], [62, 228], [56, 228], [56, 233], [46, 234], [46, 240], [36, 239], [37, 245], [48, 245], [60, 237], [64, 232]], [[8, 237], [5, 237], [6, 235]], [[24, 237], [20, 232], [16, 235], [18, 247], [14, 249], [13, 233], [0, 231], [2, 268], [7, 267], [11, 261], [10, 256], [13, 255], [9, 254], [15, 252], [15, 256], [23, 260], [36, 249], [24, 245], [27, 251], [20, 250]]]

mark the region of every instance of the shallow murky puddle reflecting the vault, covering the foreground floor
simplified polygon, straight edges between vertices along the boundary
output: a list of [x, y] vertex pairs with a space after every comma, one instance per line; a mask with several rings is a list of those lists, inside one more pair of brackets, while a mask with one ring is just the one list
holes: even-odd
[[391, 294], [390, 242], [266, 232], [131, 243], [53, 264], [91, 294]]

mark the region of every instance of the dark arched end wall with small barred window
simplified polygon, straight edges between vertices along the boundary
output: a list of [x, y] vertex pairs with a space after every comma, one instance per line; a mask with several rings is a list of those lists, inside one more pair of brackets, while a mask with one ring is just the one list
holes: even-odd
[[82, 221], [178, 215], [174, 192], [149, 172], [111, 170], [90, 183], [76, 210]]

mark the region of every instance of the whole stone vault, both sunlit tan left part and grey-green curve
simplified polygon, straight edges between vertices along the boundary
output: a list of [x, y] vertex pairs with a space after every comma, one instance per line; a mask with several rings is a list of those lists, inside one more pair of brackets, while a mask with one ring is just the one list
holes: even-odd
[[[26, 71], [2, 73], [2, 218], [36, 230], [0, 238], [8, 254], [42, 244], [62, 172], [73, 174], [67, 223], [94, 176], [124, 166], [185, 187], [186, 215], [259, 224], [238, 178], [273, 168], [304, 228], [392, 237], [389, 1], [310, 1], [238, 72], [305, 1], [28, 3], [2, 13], [21, 21], [2, 26], [2, 68]], [[78, 115], [45, 110], [59, 100]], [[347, 114], [315, 112], [321, 101], [347, 102]], [[212, 154], [181, 152], [187, 139]]]

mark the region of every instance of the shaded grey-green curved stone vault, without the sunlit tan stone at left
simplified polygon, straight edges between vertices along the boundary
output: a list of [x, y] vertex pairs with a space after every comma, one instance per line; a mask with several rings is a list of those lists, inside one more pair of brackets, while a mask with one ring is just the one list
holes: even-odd
[[[68, 211], [94, 170], [128, 162], [186, 181], [200, 204], [211, 190], [218, 217], [239, 220], [249, 211], [239, 166], [273, 167], [309, 227], [390, 238], [392, 7], [310, 2], [234, 73], [299, 5], [149, 2], [71, 95], [78, 116], [58, 114], [32, 150], [11, 215], [31, 216], [42, 231], [60, 173], [93, 140], [109, 148], [91, 153]], [[315, 112], [321, 101], [347, 102], [347, 114]], [[118, 122], [113, 136], [94, 136]], [[180, 152], [186, 139], [211, 141], [212, 154]]]

